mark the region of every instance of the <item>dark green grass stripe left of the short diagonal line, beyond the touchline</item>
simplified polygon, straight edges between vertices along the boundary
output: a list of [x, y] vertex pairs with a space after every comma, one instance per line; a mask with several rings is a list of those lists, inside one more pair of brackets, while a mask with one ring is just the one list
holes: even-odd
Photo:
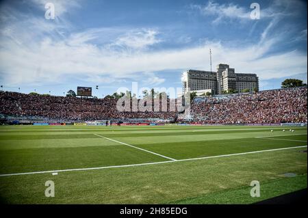
[[[101, 144], [103, 144], [103, 140], [109, 143], [107, 139], [100, 140]], [[115, 142], [110, 142], [116, 144]], [[0, 174], [166, 161], [166, 159], [161, 156], [130, 148], [129, 146], [117, 145], [118, 146], [1, 150]]]

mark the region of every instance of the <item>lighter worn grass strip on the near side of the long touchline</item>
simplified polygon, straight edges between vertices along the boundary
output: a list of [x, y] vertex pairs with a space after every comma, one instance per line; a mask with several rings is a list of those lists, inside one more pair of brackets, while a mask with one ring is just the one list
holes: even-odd
[[[248, 186], [252, 180], [263, 184], [283, 178], [287, 172], [307, 174], [307, 153], [301, 150], [303, 148], [142, 167], [66, 172], [57, 176], [5, 176], [0, 177], [1, 202], [164, 204]], [[55, 197], [44, 195], [47, 180], [55, 182]]]

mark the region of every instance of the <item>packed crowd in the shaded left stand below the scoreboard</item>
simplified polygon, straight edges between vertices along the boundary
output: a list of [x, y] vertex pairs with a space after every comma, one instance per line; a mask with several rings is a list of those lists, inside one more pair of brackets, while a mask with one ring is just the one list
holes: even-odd
[[127, 118], [174, 120], [176, 115], [175, 112], [170, 111], [118, 111], [116, 103], [117, 99], [110, 98], [76, 98], [0, 92], [0, 113], [5, 115], [80, 121]]

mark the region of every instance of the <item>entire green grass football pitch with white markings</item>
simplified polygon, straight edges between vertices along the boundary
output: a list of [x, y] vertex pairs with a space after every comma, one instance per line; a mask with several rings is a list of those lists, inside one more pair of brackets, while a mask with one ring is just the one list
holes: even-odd
[[[307, 147], [298, 146], [307, 127], [1, 126], [0, 200], [249, 204], [307, 187]], [[44, 195], [47, 180], [55, 197]], [[251, 197], [252, 180], [261, 197]]]

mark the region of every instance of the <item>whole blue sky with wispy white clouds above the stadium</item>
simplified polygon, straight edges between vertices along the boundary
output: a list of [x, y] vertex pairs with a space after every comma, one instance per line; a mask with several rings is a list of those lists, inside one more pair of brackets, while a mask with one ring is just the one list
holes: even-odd
[[[46, 3], [55, 19], [44, 18]], [[251, 19], [251, 3], [260, 18]], [[260, 89], [307, 83], [306, 1], [86, 1], [0, 3], [4, 90], [63, 95], [119, 87], [181, 87], [181, 72], [229, 64], [257, 73]]]

